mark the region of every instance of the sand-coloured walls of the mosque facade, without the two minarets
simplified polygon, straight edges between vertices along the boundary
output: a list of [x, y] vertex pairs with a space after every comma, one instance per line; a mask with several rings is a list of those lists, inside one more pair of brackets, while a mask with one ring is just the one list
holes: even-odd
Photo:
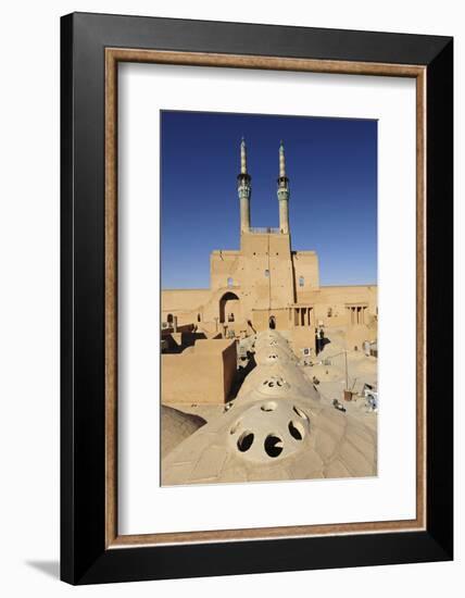
[[[375, 325], [377, 287], [319, 286], [318, 267], [315, 251], [291, 252], [289, 235], [243, 233], [239, 251], [211, 253], [211, 289], [162, 291], [162, 320], [172, 313], [178, 325], [214, 326], [219, 333], [225, 324], [240, 336], [252, 332], [248, 321], [257, 332], [266, 329], [271, 315], [277, 329], [301, 326], [299, 314], [289, 311], [300, 306], [312, 308], [312, 326]], [[354, 320], [351, 307], [363, 310], [363, 317]]]

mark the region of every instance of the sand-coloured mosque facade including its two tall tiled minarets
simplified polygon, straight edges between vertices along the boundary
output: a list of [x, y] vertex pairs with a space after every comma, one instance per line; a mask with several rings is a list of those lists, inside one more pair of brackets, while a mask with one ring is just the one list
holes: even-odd
[[279, 226], [251, 226], [252, 177], [240, 144], [237, 191], [240, 248], [210, 256], [210, 288], [164, 289], [162, 327], [193, 325], [208, 335], [243, 338], [268, 328], [288, 331], [299, 348], [314, 347], [315, 332], [337, 327], [357, 338], [376, 338], [377, 286], [319, 284], [315, 251], [296, 251], [289, 226], [290, 182], [279, 146]]

